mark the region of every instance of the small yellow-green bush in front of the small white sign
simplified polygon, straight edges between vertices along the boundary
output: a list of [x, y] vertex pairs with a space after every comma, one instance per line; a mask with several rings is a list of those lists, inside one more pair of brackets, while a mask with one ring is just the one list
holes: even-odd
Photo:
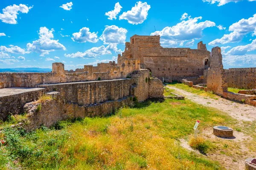
[[207, 150], [209, 150], [210, 147], [210, 142], [201, 137], [197, 137], [196, 139], [193, 137], [192, 139], [190, 139], [189, 145], [193, 149], [207, 153]]

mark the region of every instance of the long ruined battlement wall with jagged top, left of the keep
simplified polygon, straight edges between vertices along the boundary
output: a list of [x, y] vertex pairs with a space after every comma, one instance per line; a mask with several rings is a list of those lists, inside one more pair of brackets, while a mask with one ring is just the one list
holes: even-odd
[[64, 64], [52, 63], [51, 73], [0, 73], [0, 88], [9, 87], [35, 87], [40, 84], [81, 82], [120, 79], [125, 78], [132, 71], [140, 70], [139, 59], [127, 59], [123, 57], [119, 66], [115, 62], [99, 64], [98, 70], [105, 72], [93, 72], [92, 65], [85, 65], [84, 71], [81, 69], [73, 73], [64, 70]]

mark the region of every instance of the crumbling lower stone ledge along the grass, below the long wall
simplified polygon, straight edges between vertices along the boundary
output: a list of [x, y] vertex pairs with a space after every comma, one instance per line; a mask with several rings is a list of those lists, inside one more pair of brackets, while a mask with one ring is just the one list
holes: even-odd
[[[29, 102], [24, 106], [27, 113], [28, 124], [25, 125], [26, 130], [34, 130], [42, 125], [51, 127], [56, 122], [73, 118], [84, 118], [86, 116], [102, 116], [113, 113], [116, 109], [129, 105], [132, 97], [124, 97], [114, 101], [106, 101], [95, 105], [79, 106], [75, 103], [67, 103], [61, 97], [60, 92], [51, 92], [54, 98], [45, 102]], [[40, 107], [41, 109], [38, 109]]]

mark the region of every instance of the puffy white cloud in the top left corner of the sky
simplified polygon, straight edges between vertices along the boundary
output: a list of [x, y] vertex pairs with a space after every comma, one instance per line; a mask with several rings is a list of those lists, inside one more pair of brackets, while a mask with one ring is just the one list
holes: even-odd
[[26, 6], [24, 4], [7, 6], [3, 8], [3, 13], [0, 13], [0, 20], [3, 23], [17, 24], [17, 15], [19, 13], [28, 13], [33, 6]]

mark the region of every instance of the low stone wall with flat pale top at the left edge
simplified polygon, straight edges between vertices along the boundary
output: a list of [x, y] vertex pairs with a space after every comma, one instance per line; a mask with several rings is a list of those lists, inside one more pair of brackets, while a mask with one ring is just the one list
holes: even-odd
[[[0, 89], [1, 91], [14, 91], [15, 88]], [[22, 90], [22, 89], [21, 89]], [[0, 95], [0, 119], [6, 120], [8, 114], [24, 113], [23, 106], [27, 102], [38, 100], [45, 89], [35, 89], [33, 91], [25, 91], [22, 93], [14, 93], [9, 95]], [[6, 93], [5, 93], [6, 94]]]

